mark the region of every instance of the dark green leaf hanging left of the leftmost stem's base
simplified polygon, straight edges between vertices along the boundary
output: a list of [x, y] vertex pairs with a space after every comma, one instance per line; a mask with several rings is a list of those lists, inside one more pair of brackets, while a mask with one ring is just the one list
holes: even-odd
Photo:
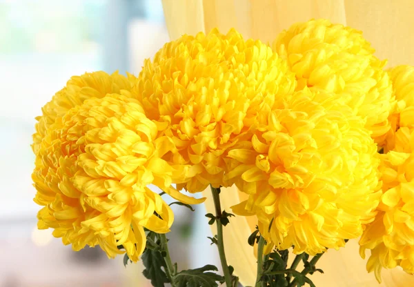
[[[157, 250], [146, 249], [141, 256], [144, 263], [145, 270], [142, 272], [147, 279], [151, 280], [154, 287], [164, 287], [165, 283], [169, 283], [168, 277], [164, 270], [166, 270], [166, 262], [161, 253]], [[164, 268], [164, 270], [162, 269]]]

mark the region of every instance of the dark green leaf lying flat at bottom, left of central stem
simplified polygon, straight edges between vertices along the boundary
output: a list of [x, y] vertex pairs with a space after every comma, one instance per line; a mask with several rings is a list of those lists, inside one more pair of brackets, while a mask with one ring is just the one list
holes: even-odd
[[208, 272], [217, 271], [214, 265], [206, 265], [201, 268], [182, 270], [174, 277], [174, 283], [177, 287], [217, 287], [217, 282], [224, 282], [224, 278], [217, 273]]

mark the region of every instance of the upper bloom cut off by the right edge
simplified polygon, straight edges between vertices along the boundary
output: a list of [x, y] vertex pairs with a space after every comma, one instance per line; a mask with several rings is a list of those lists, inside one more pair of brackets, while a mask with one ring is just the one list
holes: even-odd
[[398, 101], [397, 109], [390, 116], [391, 129], [384, 140], [384, 152], [394, 150], [395, 132], [400, 127], [414, 128], [414, 67], [397, 66], [388, 71], [393, 92]]

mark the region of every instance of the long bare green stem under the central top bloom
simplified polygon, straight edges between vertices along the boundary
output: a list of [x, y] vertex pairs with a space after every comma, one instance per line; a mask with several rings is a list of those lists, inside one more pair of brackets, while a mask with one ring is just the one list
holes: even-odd
[[226, 260], [226, 254], [224, 253], [224, 240], [223, 240], [223, 224], [221, 224], [221, 205], [220, 205], [220, 188], [211, 187], [211, 193], [213, 194], [213, 201], [216, 212], [216, 224], [217, 224], [217, 246], [219, 248], [219, 256], [221, 261], [221, 268], [223, 268], [224, 279], [226, 281], [226, 287], [232, 287], [232, 279], [230, 275], [230, 270], [228, 270], [228, 264]]

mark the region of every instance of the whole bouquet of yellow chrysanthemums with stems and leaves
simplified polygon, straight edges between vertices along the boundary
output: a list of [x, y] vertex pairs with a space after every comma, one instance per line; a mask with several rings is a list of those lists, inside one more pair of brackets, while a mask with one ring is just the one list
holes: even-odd
[[[384, 70], [373, 52], [361, 32], [320, 19], [271, 46], [234, 29], [184, 35], [138, 77], [72, 77], [33, 135], [38, 227], [73, 250], [141, 257], [156, 287], [237, 286], [243, 270], [223, 243], [233, 216], [257, 222], [245, 239], [257, 287], [315, 286], [326, 250], [358, 239], [378, 281], [382, 268], [414, 273], [414, 67]], [[233, 213], [220, 203], [230, 186], [246, 195]], [[186, 192], [206, 188], [224, 276], [179, 270], [168, 253], [162, 196], [190, 206], [205, 198]]]

